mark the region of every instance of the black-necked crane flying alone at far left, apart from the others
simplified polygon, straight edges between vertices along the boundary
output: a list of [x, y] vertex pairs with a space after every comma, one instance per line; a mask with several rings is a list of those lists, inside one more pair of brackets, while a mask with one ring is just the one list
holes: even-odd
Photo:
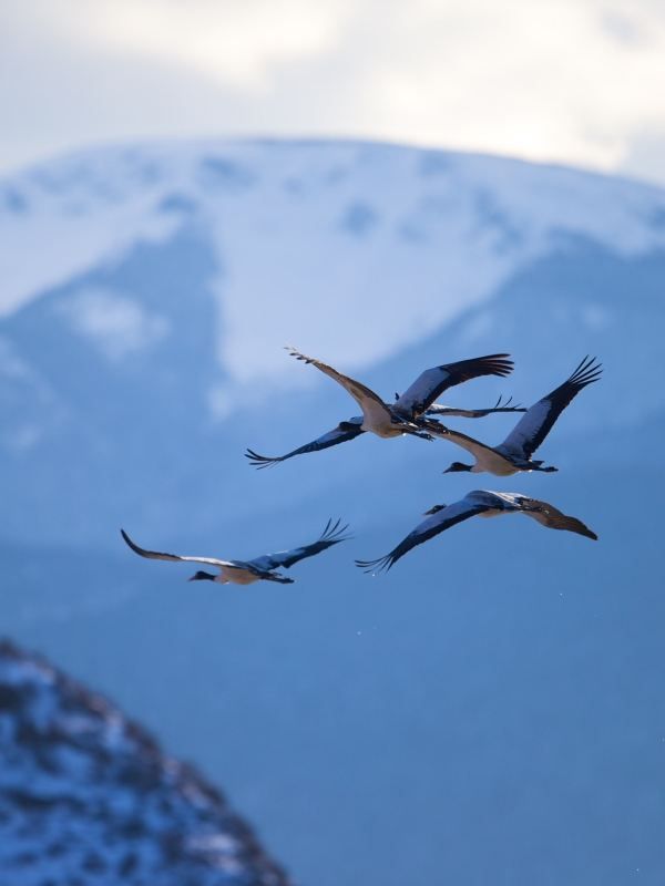
[[201, 563], [216, 567], [218, 570], [217, 574], [200, 570], [190, 578], [190, 581], [208, 580], [218, 581], [221, 585], [250, 585], [254, 581], [265, 579], [267, 581], [278, 581], [282, 585], [291, 585], [293, 578], [288, 578], [275, 570], [279, 568], [289, 569], [295, 563], [306, 557], [314, 557], [315, 554], [320, 554], [321, 550], [326, 550], [332, 545], [346, 542], [350, 538], [350, 536], [345, 535], [348, 526], [340, 526], [339, 524], [339, 519], [336, 523], [329, 519], [319, 538], [310, 545], [296, 547], [293, 550], [279, 550], [277, 554], [264, 554], [262, 557], [255, 557], [252, 560], [183, 557], [178, 554], [161, 554], [156, 550], [145, 550], [145, 548], [139, 547], [135, 542], [132, 542], [124, 529], [120, 532], [132, 550], [141, 557], [147, 557], [151, 560], [168, 560], [170, 563]]

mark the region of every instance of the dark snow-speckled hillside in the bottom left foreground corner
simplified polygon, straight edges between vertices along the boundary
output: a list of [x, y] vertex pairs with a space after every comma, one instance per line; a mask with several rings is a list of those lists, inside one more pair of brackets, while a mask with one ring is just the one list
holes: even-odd
[[217, 791], [101, 696], [0, 642], [3, 886], [286, 886]]

